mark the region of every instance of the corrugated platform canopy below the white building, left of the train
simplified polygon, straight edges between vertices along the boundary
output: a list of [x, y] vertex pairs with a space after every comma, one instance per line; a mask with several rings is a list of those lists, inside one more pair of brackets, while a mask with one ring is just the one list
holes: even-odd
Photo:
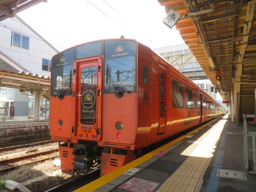
[[0, 70], [0, 87], [17, 88], [21, 92], [44, 91], [43, 97], [50, 99], [50, 77], [11, 70]]

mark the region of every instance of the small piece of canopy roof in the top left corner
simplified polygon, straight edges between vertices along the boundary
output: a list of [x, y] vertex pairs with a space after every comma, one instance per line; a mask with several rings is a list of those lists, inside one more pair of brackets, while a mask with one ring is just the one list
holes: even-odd
[[47, 0], [0, 0], [0, 21]]

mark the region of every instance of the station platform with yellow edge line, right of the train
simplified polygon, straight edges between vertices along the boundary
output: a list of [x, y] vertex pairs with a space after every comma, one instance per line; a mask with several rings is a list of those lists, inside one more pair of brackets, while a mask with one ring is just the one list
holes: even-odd
[[255, 192], [242, 132], [226, 114], [75, 192]]

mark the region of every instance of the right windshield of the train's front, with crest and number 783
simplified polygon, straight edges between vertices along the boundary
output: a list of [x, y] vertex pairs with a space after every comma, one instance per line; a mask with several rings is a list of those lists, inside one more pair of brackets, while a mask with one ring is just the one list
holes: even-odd
[[136, 92], [136, 43], [130, 40], [105, 41], [104, 93]]

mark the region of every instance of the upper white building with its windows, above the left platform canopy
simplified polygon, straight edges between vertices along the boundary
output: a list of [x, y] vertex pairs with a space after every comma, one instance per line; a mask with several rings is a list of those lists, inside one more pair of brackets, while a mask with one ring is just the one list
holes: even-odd
[[1, 21], [0, 37], [0, 69], [50, 76], [50, 60], [59, 51], [20, 17]]

